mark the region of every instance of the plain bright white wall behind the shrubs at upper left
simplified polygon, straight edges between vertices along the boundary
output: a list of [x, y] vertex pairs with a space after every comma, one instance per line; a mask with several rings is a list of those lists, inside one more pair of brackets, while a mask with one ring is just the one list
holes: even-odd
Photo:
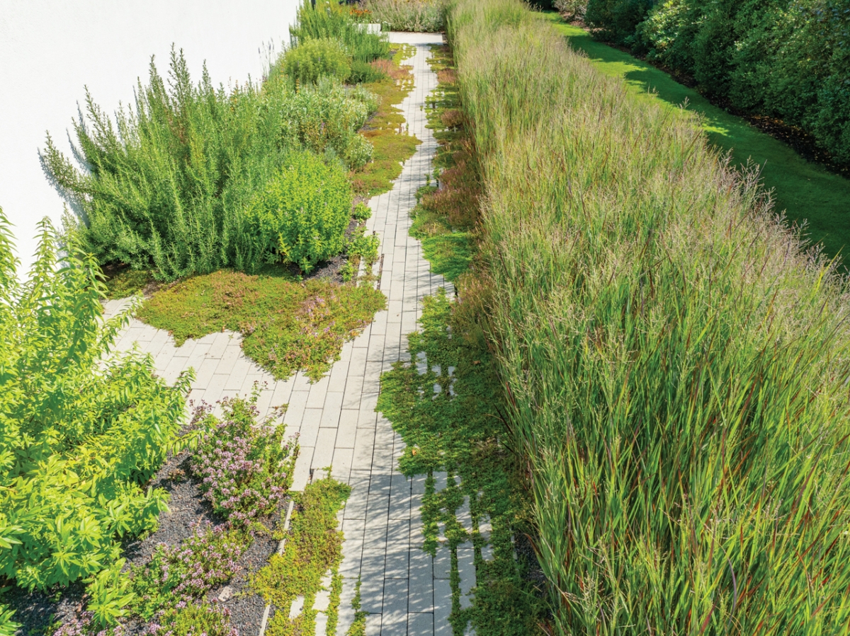
[[[62, 200], [38, 160], [46, 132], [68, 154], [68, 132], [88, 86], [112, 113], [147, 83], [150, 56], [162, 76], [172, 43], [193, 79], [206, 60], [213, 84], [259, 79], [273, 43], [289, 39], [298, 0], [0, 0], [0, 207], [14, 223], [26, 272], [36, 223], [59, 226]], [[263, 49], [263, 53], [260, 52]]]

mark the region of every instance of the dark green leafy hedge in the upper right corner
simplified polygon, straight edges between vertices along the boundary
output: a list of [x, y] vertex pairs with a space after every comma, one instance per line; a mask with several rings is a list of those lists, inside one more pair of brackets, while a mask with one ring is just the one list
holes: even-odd
[[735, 107], [811, 132], [850, 162], [850, 5], [842, 0], [589, 0], [605, 39]]

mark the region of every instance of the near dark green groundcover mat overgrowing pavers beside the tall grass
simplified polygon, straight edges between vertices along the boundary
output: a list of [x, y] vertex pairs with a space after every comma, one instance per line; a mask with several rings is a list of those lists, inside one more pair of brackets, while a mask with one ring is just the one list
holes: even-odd
[[[432, 554], [438, 549], [438, 524], [445, 526], [450, 548], [467, 541], [476, 548], [473, 607], [453, 612], [456, 633], [464, 633], [471, 621], [481, 634], [540, 634], [545, 608], [528, 581], [527, 561], [514, 560], [512, 537], [530, 531], [530, 505], [516, 478], [515, 458], [499, 442], [509, 434], [500, 415], [496, 364], [480, 329], [456, 316], [462, 311], [462, 303], [452, 303], [442, 288], [424, 297], [420, 330], [409, 336], [409, 351], [414, 360], [424, 355], [428, 370], [395, 363], [382, 375], [377, 410], [405, 441], [399, 459], [405, 475], [447, 470], [461, 478], [460, 485], [450, 483], [440, 492], [429, 479], [422, 502], [423, 549]], [[434, 386], [441, 386], [436, 394]], [[456, 521], [464, 497], [476, 523], [490, 518], [492, 560], [481, 559], [487, 541]]]

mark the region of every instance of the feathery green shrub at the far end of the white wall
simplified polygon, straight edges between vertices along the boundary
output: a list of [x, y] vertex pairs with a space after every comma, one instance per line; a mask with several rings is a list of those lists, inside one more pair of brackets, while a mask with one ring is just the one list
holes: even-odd
[[386, 34], [369, 33], [347, 6], [330, 0], [317, 0], [315, 8], [310, 0], [304, 0], [289, 33], [293, 48], [310, 40], [333, 39], [343, 45], [351, 59], [360, 62], [389, 57]]

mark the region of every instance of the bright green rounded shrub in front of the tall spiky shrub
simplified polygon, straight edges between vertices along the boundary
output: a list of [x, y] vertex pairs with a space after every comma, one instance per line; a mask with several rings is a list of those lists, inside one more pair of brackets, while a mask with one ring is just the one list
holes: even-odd
[[293, 153], [246, 207], [255, 258], [297, 263], [309, 272], [343, 250], [353, 198], [340, 166], [327, 166], [309, 152]]

